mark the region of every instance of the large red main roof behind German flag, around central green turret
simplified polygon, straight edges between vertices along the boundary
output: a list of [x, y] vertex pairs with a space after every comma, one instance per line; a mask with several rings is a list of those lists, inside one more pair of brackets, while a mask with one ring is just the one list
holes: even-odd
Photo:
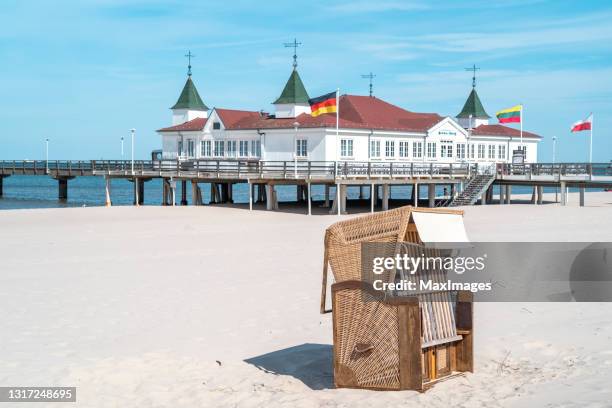
[[[290, 129], [295, 122], [301, 128], [335, 127], [336, 114], [317, 117], [301, 114], [296, 118], [276, 118], [266, 113], [217, 109], [225, 128], [238, 129]], [[227, 120], [226, 120], [227, 118]], [[442, 120], [436, 113], [415, 113], [369, 96], [343, 95], [340, 97], [341, 128], [382, 129], [424, 132]]]

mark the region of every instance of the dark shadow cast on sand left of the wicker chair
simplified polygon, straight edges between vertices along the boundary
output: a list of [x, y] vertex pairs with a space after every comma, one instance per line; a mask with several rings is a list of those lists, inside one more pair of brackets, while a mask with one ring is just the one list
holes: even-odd
[[301, 344], [244, 360], [267, 373], [290, 375], [312, 390], [334, 387], [332, 346]]

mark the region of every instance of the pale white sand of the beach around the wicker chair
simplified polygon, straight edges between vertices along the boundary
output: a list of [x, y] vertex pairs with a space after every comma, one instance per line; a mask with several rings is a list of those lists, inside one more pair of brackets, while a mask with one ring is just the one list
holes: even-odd
[[[468, 207], [465, 223], [474, 241], [610, 241], [610, 202]], [[333, 389], [318, 307], [336, 220], [2, 211], [0, 385], [76, 386], [70, 407], [610, 406], [612, 304], [479, 303], [474, 374], [424, 394]]]

